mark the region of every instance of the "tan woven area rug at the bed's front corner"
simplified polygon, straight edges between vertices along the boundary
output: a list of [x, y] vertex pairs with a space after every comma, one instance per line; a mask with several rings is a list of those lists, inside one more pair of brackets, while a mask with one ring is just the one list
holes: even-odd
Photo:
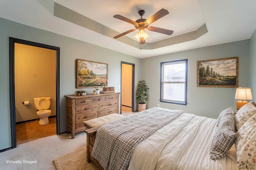
[[98, 170], [86, 161], [86, 147], [76, 149], [53, 160], [56, 170]]

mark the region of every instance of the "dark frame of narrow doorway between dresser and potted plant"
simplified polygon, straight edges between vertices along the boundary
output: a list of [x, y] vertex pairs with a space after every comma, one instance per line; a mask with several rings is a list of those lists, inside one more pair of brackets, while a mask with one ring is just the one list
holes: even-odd
[[[121, 92], [122, 92], [122, 64], [132, 65], [132, 111], [135, 111], [135, 64], [121, 61]], [[122, 113], [122, 93], [121, 93], [121, 113]]]

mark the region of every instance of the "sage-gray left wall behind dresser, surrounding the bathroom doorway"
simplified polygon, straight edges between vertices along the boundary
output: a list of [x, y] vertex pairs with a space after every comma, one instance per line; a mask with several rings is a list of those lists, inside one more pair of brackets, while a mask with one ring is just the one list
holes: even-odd
[[[108, 63], [108, 86], [119, 92], [121, 61], [135, 64], [135, 82], [140, 80], [141, 59], [78, 41], [62, 35], [0, 18], [0, 150], [11, 147], [9, 37], [60, 47], [60, 131], [66, 131], [66, 100], [76, 89], [76, 59]], [[86, 89], [92, 93], [91, 89]]]

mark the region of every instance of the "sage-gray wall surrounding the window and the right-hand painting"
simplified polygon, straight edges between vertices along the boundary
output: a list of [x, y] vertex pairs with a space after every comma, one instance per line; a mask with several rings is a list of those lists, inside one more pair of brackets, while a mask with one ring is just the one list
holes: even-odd
[[[238, 86], [248, 87], [249, 40], [143, 59], [142, 79], [149, 88], [147, 108], [160, 104], [160, 107], [182, 109], [186, 113], [211, 118], [217, 118], [220, 112], [228, 107], [233, 107], [236, 112], [236, 88], [197, 87], [197, 61], [226, 57], [239, 57]], [[188, 59], [187, 106], [159, 102], [160, 63], [181, 59]]]

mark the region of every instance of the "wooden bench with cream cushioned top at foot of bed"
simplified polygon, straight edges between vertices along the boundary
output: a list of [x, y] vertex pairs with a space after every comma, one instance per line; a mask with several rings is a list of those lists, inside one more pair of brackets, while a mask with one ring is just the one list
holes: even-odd
[[106, 115], [106, 116], [102, 116], [102, 117], [84, 121], [84, 126], [88, 128], [84, 131], [87, 135], [86, 136], [86, 151], [87, 151], [86, 152], [86, 156], [87, 156], [86, 160], [87, 160], [87, 162], [92, 161], [99, 168], [99, 170], [104, 170], [104, 168], [102, 168], [100, 163], [95, 158], [92, 157], [92, 149], [93, 149], [94, 142], [96, 139], [96, 133], [102, 125], [105, 125], [106, 123], [115, 121], [117, 119], [121, 119], [123, 117], [124, 117], [123, 115], [113, 113], [110, 115]]

